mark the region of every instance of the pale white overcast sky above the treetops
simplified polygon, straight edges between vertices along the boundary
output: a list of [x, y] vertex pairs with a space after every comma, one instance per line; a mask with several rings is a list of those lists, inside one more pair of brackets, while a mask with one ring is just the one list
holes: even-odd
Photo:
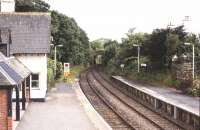
[[171, 21], [182, 24], [185, 16], [190, 32], [200, 32], [200, 0], [49, 0], [52, 10], [75, 18], [90, 40], [120, 40], [129, 28], [152, 32]]

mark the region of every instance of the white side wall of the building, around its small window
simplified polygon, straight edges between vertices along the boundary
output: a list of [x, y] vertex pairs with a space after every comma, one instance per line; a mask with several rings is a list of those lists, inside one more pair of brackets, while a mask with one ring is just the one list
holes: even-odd
[[[30, 96], [34, 98], [45, 98], [47, 91], [47, 55], [26, 54], [16, 56], [32, 73], [39, 74], [39, 88], [32, 88]], [[30, 84], [31, 85], [31, 84]]]

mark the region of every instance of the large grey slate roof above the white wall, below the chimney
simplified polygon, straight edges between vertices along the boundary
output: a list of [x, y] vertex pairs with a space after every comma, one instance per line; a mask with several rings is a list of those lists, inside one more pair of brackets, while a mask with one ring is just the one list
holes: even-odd
[[0, 29], [11, 30], [11, 54], [49, 53], [50, 25], [49, 13], [0, 13]]

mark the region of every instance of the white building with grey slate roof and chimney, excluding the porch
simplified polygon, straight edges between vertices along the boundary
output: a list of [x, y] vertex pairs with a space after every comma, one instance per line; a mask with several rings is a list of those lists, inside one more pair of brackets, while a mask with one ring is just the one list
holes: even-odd
[[14, 6], [10, 5], [15, 3], [14, 0], [0, 1], [1, 10], [4, 11], [0, 13], [0, 51], [7, 53], [6, 56], [15, 56], [31, 71], [30, 82], [27, 83], [31, 89], [30, 98], [44, 101], [47, 92], [47, 55], [50, 51], [50, 14], [15, 13]]

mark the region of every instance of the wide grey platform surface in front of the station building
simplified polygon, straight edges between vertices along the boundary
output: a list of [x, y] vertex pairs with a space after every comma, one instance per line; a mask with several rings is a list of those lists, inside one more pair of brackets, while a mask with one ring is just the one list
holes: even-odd
[[46, 102], [29, 104], [16, 130], [96, 130], [73, 85], [60, 83]]

